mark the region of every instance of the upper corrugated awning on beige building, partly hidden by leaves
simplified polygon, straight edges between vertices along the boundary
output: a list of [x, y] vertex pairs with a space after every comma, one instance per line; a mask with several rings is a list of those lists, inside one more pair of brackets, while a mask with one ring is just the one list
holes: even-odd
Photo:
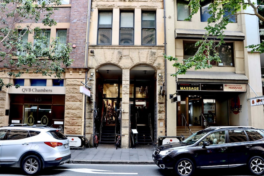
[[[206, 30], [195, 29], [175, 29], [175, 39], [202, 39]], [[224, 31], [224, 40], [243, 41], [245, 35], [240, 31]], [[209, 35], [210, 39], [216, 39], [216, 36]]]

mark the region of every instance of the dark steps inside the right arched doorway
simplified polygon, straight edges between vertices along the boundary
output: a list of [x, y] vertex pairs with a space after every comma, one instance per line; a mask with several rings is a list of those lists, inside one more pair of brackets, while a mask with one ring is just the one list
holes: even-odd
[[139, 145], [150, 145], [152, 144], [152, 140], [150, 138], [150, 129], [147, 125], [137, 125], [138, 130], [138, 139], [137, 144]]

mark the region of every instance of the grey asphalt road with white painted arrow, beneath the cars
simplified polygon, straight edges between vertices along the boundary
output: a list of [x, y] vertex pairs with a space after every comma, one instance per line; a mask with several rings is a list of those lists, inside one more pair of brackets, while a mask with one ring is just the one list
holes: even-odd
[[[18, 168], [0, 168], [1, 176], [23, 175]], [[172, 176], [172, 170], [162, 170], [156, 165], [133, 165], [133, 164], [63, 164], [42, 170], [39, 175], [47, 176]], [[194, 176], [249, 176], [245, 167], [232, 169], [197, 170]]]

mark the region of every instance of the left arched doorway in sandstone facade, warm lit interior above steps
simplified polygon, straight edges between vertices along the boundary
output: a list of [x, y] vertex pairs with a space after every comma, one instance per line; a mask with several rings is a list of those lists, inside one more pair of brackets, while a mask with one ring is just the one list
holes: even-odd
[[115, 144], [115, 133], [121, 131], [122, 69], [113, 64], [97, 68], [95, 93], [93, 131], [99, 133], [100, 144]]

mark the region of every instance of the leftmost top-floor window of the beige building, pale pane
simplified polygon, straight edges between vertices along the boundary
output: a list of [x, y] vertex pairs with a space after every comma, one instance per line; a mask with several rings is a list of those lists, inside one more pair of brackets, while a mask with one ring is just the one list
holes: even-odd
[[178, 0], [177, 1], [177, 20], [184, 21], [190, 15], [189, 1]]

